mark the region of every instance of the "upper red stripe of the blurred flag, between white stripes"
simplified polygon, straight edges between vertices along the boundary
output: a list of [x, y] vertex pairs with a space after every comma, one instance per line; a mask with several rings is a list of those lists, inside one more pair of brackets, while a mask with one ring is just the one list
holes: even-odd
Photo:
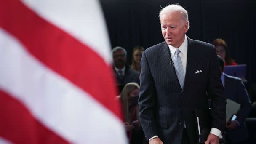
[[0, 27], [19, 39], [47, 67], [121, 117], [120, 105], [114, 99], [117, 91], [112, 68], [88, 45], [45, 21], [19, 0], [0, 0]]

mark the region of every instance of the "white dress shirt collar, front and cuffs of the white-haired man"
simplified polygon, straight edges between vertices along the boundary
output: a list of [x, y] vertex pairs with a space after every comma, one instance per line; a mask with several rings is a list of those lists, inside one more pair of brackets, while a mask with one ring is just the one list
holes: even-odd
[[[184, 77], [186, 76], [186, 68], [187, 68], [187, 45], [188, 45], [187, 35], [185, 35], [185, 39], [184, 39], [183, 43], [181, 44], [181, 46], [179, 47], [179, 51], [180, 51], [179, 56], [181, 57], [181, 62], [182, 62], [183, 70], [184, 70]], [[169, 49], [170, 49], [170, 52], [171, 52], [171, 59], [172, 59], [172, 61], [174, 61], [175, 60], [174, 54], [175, 54], [176, 48], [171, 46], [171, 45], [168, 45], [168, 46], [169, 46]], [[211, 128], [210, 133], [214, 134], [214, 135], [218, 136], [220, 139], [222, 139], [222, 132], [219, 129]], [[156, 138], [156, 137], [158, 137], [158, 136], [152, 136], [149, 139], [149, 141], [151, 139]]]

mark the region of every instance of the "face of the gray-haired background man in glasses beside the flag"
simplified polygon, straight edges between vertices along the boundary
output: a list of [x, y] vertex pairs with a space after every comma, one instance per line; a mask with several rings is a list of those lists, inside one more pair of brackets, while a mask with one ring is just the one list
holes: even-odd
[[125, 53], [122, 50], [117, 50], [113, 53], [113, 59], [114, 59], [114, 64], [116, 67], [123, 67], [125, 66], [126, 62], [126, 57]]

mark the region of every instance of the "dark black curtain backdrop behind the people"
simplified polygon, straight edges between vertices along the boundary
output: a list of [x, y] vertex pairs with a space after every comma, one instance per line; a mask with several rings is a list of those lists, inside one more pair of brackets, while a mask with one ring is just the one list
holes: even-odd
[[248, 87], [256, 82], [256, 0], [100, 0], [112, 48], [126, 49], [131, 64], [134, 46], [163, 42], [157, 18], [161, 6], [179, 3], [188, 11], [187, 36], [212, 43], [222, 38], [238, 64], [247, 64]]

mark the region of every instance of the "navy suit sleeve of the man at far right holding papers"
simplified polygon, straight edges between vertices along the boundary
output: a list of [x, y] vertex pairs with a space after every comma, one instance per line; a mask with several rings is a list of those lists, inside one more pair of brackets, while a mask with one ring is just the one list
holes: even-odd
[[251, 101], [242, 80], [237, 81], [237, 102], [241, 104], [236, 120], [242, 124], [251, 110]]

